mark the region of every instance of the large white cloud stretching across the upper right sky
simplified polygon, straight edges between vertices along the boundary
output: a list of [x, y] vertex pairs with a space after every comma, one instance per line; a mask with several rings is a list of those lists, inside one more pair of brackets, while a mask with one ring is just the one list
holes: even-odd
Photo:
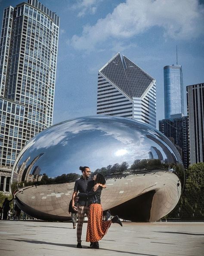
[[198, 0], [126, 0], [95, 25], [84, 26], [71, 43], [91, 51], [107, 39], [131, 38], [154, 26], [163, 28], [166, 37], [191, 39], [203, 33], [203, 24], [204, 7]]

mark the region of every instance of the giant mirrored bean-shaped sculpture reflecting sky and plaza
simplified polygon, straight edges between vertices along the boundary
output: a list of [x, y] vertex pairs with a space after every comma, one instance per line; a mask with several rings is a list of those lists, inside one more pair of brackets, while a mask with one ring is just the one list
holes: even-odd
[[42, 220], [68, 221], [79, 166], [105, 174], [102, 207], [131, 221], [156, 221], [179, 201], [181, 157], [158, 130], [128, 118], [74, 118], [37, 134], [12, 170], [15, 202]]

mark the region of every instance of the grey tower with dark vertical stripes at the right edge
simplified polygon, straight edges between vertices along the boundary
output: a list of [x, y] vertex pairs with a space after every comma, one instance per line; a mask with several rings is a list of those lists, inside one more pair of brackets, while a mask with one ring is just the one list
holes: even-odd
[[190, 164], [193, 164], [204, 162], [204, 83], [189, 85], [186, 89]]

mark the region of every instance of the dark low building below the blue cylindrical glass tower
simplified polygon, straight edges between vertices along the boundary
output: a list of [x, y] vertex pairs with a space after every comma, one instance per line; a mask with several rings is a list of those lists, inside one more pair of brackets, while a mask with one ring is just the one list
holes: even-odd
[[159, 120], [159, 131], [166, 135], [179, 151], [185, 168], [189, 166], [188, 117]]

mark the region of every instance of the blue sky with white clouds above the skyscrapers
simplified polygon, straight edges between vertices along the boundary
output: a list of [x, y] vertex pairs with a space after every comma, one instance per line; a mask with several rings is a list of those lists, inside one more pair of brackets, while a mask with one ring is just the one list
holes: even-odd
[[[21, 2], [0, 0], [0, 22], [4, 8]], [[156, 79], [158, 128], [163, 68], [176, 64], [176, 45], [187, 115], [186, 86], [204, 83], [204, 0], [40, 2], [60, 17], [53, 124], [96, 115], [98, 70], [120, 52]]]

